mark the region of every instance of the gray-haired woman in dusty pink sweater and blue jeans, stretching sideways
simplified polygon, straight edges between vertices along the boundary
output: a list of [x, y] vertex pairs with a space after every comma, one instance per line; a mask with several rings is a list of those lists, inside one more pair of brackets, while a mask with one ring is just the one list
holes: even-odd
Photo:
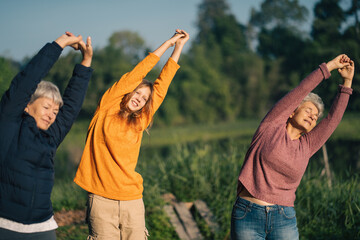
[[[338, 69], [343, 84], [319, 124], [323, 103], [311, 91]], [[298, 239], [294, 201], [310, 157], [341, 121], [354, 76], [354, 62], [339, 55], [301, 81], [268, 112], [252, 139], [238, 179], [231, 238]]]

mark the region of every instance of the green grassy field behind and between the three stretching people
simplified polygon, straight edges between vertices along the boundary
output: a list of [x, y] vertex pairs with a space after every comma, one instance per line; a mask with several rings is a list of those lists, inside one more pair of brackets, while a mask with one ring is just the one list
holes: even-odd
[[[360, 126], [350, 116], [342, 121], [334, 139], [359, 141]], [[178, 200], [204, 200], [220, 229], [204, 230], [207, 239], [228, 239], [237, 176], [259, 120], [212, 126], [152, 129], [144, 135], [137, 170], [144, 178], [144, 202], [150, 240], [178, 239], [167, 216], [162, 194]], [[56, 158], [52, 194], [55, 211], [85, 207], [86, 193], [72, 183], [85, 141], [85, 123], [77, 123]], [[321, 174], [320, 156], [312, 159], [296, 200], [301, 239], [360, 239], [360, 179], [351, 172], [337, 175], [330, 188]], [[85, 239], [86, 225], [60, 227], [58, 239]]]

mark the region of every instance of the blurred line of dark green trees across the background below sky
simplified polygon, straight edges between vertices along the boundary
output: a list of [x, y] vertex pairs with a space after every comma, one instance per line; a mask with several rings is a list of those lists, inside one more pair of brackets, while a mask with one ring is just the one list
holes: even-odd
[[[264, 0], [243, 24], [232, 14], [226, 0], [203, 0], [198, 6], [197, 36], [191, 36], [191, 46], [181, 56], [181, 68], [155, 123], [181, 125], [262, 117], [319, 64], [341, 53], [355, 61], [355, 91], [347, 111], [358, 111], [360, 5], [357, 0], [348, 0], [345, 8], [342, 2], [319, 0], [314, 9], [307, 9], [297, 0]], [[308, 20], [310, 11], [312, 23]], [[303, 29], [308, 24], [311, 28], [306, 32]], [[104, 91], [152, 50], [131, 31], [115, 32], [105, 47], [95, 49], [95, 71], [81, 117], [90, 118]], [[63, 55], [45, 80], [63, 91], [80, 58], [74, 52]], [[14, 63], [0, 57], [1, 95], [27, 60]], [[154, 80], [160, 67], [147, 79]], [[334, 71], [315, 90], [327, 109], [340, 83]]]

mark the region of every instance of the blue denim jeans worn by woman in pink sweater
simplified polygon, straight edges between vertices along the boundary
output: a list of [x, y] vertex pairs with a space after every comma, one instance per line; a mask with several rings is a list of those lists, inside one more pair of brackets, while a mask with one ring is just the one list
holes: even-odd
[[232, 240], [299, 239], [295, 209], [261, 206], [237, 197], [231, 214]]

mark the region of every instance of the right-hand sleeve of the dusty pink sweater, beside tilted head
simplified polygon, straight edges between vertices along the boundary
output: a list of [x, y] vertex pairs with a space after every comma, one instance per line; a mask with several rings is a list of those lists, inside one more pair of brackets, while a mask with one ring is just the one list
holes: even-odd
[[339, 85], [338, 93], [326, 118], [321, 120], [312, 131], [302, 136], [309, 144], [310, 156], [321, 148], [339, 125], [352, 91], [351, 88]]

